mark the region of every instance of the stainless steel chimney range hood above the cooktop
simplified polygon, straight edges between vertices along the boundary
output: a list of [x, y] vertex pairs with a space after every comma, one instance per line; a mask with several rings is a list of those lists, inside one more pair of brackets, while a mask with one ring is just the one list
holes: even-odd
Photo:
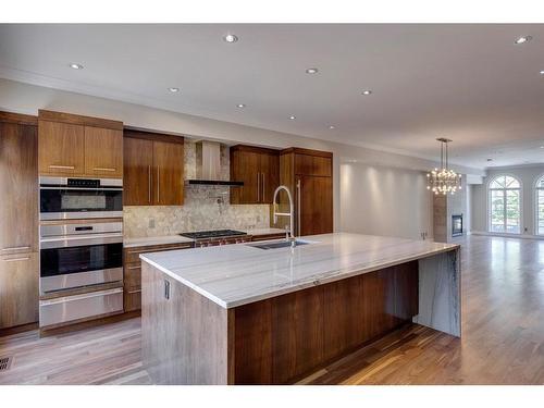
[[210, 186], [243, 186], [243, 182], [230, 182], [221, 180], [221, 145], [217, 141], [196, 143], [197, 169], [196, 178], [189, 180], [189, 184]]

